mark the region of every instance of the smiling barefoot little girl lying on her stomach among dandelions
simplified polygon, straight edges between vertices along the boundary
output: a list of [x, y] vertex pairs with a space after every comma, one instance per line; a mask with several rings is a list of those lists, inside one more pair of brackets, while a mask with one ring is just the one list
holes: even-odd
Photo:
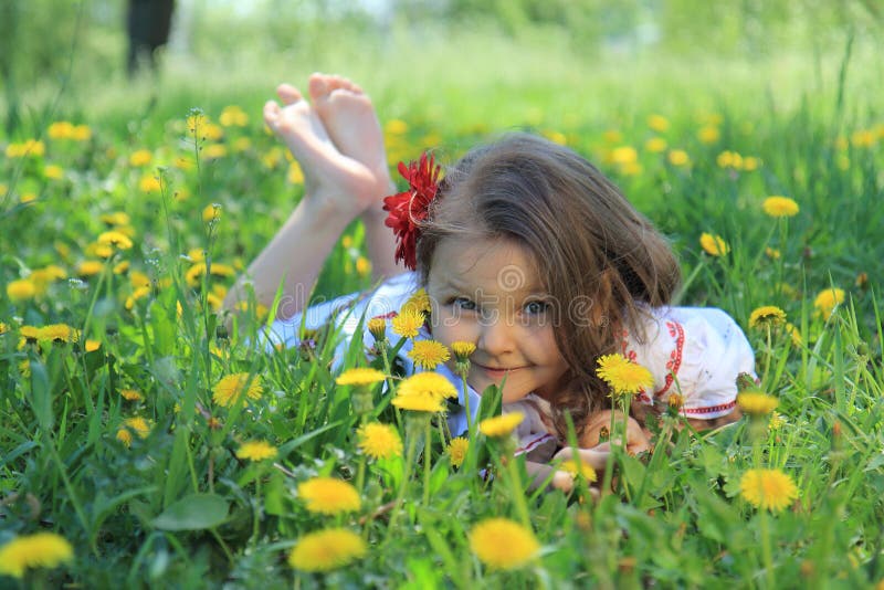
[[[388, 197], [393, 189], [368, 97], [337, 76], [314, 74], [309, 89], [312, 106], [283, 85], [283, 106], [264, 108], [305, 176], [304, 198], [248, 273], [265, 305], [283, 283], [274, 338], [294, 345], [302, 320], [316, 327], [349, 305], [343, 347], [359, 318], [389, 317], [423, 287], [432, 310], [419, 339], [475, 345], [469, 407], [478, 408], [477, 392], [503, 382], [504, 412], [526, 414], [518, 452], [541, 476], [537, 465], [561, 446], [566, 412], [581, 447], [598, 444], [610, 423], [608, 388], [596, 375], [601, 355], [621, 352], [651, 370], [653, 388], [638, 404], [665, 407], [678, 393], [697, 428], [738, 417], [736, 379], [754, 369], [746, 337], [718, 309], [669, 306], [680, 270], [667, 242], [586, 159], [513, 134], [471, 150], [441, 182], [432, 158], [400, 166], [409, 189]], [[309, 286], [357, 215], [383, 282], [369, 296], [313, 306], [303, 317]], [[417, 272], [397, 274], [393, 257]], [[231, 289], [229, 308], [244, 296], [243, 285]], [[460, 383], [453, 360], [439, 372]], [[646, 441], [628, 420], [628, 445], [641, 450]], [[462, 433], [464, 412], [449, 424]], [[599, 457], [585, 454], [597, 465]], [[552, 483], [568, 488], [562, 475], [552, 474]]]

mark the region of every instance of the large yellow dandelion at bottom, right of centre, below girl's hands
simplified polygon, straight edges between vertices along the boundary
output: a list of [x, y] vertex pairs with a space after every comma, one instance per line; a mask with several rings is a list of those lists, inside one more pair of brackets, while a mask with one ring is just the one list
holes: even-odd
[[487, 518], [470, 531], [470, 549], [491, 569], [513, 570], [530, 562], [540, 544], [530, 529], [508, 518]]

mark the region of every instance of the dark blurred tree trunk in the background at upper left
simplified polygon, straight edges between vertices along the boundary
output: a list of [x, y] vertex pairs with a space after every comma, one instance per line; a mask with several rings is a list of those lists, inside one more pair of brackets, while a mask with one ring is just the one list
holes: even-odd
[[135, 75], [143, 64], [156, 70], [159, 48], [169, 42], [175, 0], [129, 0], [126, 30], [129, 53], [126, 70]]

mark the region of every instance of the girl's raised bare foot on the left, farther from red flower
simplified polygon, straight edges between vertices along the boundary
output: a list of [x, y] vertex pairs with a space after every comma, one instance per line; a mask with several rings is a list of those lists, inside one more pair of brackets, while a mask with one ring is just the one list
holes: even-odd
[[375, 203], [378, 187], [373, 171], [337, 150], [316, 110], [297, 88], [283, 84], [276, 93], [283, 106], [267, 101], [264, 122], [301, 164], [306, 197], [352, 217]]

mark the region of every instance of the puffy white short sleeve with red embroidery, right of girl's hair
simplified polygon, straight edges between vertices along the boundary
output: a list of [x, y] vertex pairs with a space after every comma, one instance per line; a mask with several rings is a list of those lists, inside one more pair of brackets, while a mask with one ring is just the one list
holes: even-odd
[[665, 403], [671, 393], [684, 398], [687, 418], [714, 419], [736, 407], [737, 377], [755, 377], [755, 352], [737, 323], [716, 308], [653, 309], [642, 341], [629, 338], [628, 356], [654, 377], [644, 403]]

